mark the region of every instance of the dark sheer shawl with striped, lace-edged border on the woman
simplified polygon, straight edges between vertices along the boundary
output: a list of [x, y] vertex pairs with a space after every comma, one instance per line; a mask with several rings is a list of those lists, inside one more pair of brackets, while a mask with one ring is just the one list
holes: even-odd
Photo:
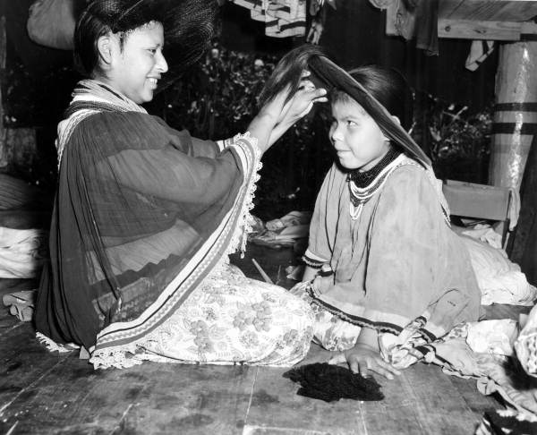
[[125, 366], [245, 243], [260, 151], [248, 133], [215, 143], [175, 131], [98, 81], [73, 97], [36, 325], [52, 347]]

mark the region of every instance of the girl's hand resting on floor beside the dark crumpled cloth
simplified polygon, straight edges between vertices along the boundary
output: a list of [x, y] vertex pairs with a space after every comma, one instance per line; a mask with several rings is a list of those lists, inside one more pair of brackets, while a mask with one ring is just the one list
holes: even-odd
[[371, 376], [371, 371], [393, 380], [394, 375], [401, 374], [392, 365], [385, 362], [380, 353], [371, 345], [357, 343], [352, 349], [333, 356], [329, 364], [347, 363], [354, 373], [360, 373], [363, 377]]

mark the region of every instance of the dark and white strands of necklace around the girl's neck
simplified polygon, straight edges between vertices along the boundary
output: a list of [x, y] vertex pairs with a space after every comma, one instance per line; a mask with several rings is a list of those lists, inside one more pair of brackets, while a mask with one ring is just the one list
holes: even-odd
[[363, 205], [379, 191], [388, 179], [388, 175], [399, 165], [399, 156], [401, 156], [401, 151], [392, 147], [369, 171], [360, 172], [355, 169], [347, 175], [350, 193], [349, 211], [353, 220], [360, 218]]

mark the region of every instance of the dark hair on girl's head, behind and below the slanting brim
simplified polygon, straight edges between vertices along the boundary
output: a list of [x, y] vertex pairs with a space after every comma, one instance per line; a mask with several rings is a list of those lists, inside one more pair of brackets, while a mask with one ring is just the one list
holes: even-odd
[[[411, 128], [413, 93], [401, 73], [379, 65], [366, 65], [351, 70], [349, 74], [386, 107], [390, 115], [397, 116], [406, 131]], [[343, 90], [333, 90], [330, 94], [332, 103], [348, 100], [353, 98]]]

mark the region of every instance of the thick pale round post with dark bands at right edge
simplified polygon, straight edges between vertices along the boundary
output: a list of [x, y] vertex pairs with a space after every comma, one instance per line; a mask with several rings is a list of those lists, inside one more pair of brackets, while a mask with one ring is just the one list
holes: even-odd
[[520, 188], [537, 126], [537, 41], [499, 48], [489, 183]]

